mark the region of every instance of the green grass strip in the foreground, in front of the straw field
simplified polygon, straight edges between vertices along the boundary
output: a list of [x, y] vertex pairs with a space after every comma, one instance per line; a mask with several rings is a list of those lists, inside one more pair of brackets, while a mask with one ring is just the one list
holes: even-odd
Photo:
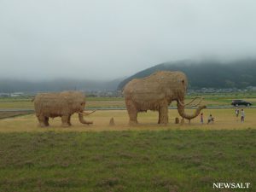
[[255, 151], [253, 129], [1, 133], [0, 191], [256, 191]]

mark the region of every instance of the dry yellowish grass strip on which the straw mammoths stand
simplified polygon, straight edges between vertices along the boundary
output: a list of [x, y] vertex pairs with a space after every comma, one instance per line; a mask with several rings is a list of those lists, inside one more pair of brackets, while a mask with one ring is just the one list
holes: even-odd
[[[192, 113], [193, 110], [186, 110]], [[98, 110], [92, 113], [86, 119], [93, 120], [93, 125], [81, 125], [78, 114], [73, 114], [73, 126], [68, 128], [61, 127], [61, 118], [49, 119], [48, 128], [39, 128], [38, 121], [34, 114], [28, 114], [20, 117], [0, 119], [0, 131], [125, 131], [125, 130], [166, 130], [166, 129], [201, 129], [201, 130], [233, 130], [256, 128], [256, 108], [245, 108], [245, 122], [241, 123], [236, 119], [234, 108], [229, 109], [204, 109], [204, 125], [200, 124], [200, 117], [191, 120], [191, 123], [185, 122], [184, 125], [175, 125], [174, 119], [179, 117], [176, 109], [169, 110], [169, 124], [157, 125], [158, 113], [148, 111], [148, 113], [139, 113], [139, 124], [136, 126], [128, 125], [128, 114], [126, 110]], [[215, 122], [207, 125], [207, 117], [212, 113]], [[109, 120], [113, 117], [115, 125], [109, 126]]]

